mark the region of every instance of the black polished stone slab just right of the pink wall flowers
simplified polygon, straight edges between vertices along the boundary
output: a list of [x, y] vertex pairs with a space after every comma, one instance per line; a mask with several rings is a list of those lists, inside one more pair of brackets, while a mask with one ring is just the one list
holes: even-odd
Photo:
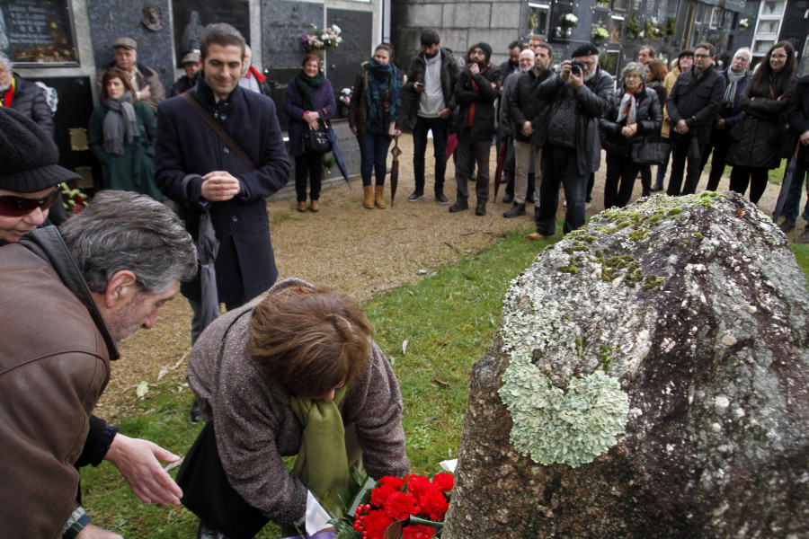
[[[346, 9], [328, 9], [326, 11], [328, 26], [336, 24], [342, 30], [342, 43], [336, 49], [326, 51], [326, 75], [334, 88], [335, 98], [340, 96], [342, 88], [351, 88], [354, 78], [360, 71], [360, 64], [369, 60], [373, 48], [378, 45], [371, 41], [369, 31], [373, 26], [373, 13], [357, 12]], [[400, 71], [406, 72], [407, 66], [394, 63]]]

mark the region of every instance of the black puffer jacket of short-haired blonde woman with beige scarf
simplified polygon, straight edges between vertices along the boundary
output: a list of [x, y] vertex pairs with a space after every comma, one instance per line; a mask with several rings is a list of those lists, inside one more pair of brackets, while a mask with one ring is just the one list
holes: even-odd
[[652, 88], [646, 88], [636, 93], [636, 121], [637, 132], [632, 137], [621, 135], [621, 128], [627, 125], [627, 119], [620, 122], [621, 100], [624, 99], [626, 91], [618, 88], [612, 95], [612, 104], [603, 118], [599, 119], [601, 129], [601, 146], [608, 154], [618, 154], [628, 157], [632, 152], [632, 146], [642, 142], [655, 142], [660, 133], [662, 124], [662, 108], [657, 93]]

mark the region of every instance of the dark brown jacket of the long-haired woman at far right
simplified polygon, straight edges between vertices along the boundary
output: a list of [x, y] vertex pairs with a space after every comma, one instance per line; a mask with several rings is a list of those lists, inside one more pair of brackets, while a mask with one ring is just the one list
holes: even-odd
[[769, 91], [766, 95], [755, 92], [752, 81], [747, 84], [742, 93], [744, 117], [731, 129], [733, 144], [727, 153], [727, 163], [766, 169], [778, 166], [781, 162], [780, 140], [773, 137], [777, 135], [777, 123], [784, 121], [784, 112], [794, 88], [795, 80], [787, 85], [787, 91], [780, 99], [774, 99]]

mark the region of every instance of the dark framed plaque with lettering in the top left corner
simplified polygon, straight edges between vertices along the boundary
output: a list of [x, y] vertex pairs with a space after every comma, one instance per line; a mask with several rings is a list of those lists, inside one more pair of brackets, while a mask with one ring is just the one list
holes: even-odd
[[0, 0], [0, 50], [15, 66], [77, 65], [68, 1]]

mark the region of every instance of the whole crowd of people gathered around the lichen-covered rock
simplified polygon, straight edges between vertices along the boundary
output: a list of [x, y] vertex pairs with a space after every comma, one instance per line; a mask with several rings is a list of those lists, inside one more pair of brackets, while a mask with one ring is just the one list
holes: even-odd
[[[119, 537], [90, 524], [80, 503], [76, 467], [104, 459], [143, 501], [182, 499], [200, 516], [202, 538], [244, 526], [251, 510], [259, 520], [306, 527], [313, 499], [344, 488], [360, 457], [375, 478], [408, 472], [396, 376], [359, 306], [297, 279], [276, 283], [265, 201], [287, 183], [291, 166], [265, 77], [230, 25], [208, 25], [199, 45], [182, 58], [186, 75], [164, 99], [156, 72], [138, 63], [137, 43], [112, 43], [115, 60], [99, 70], [101, 103], [88, 129], [106, 190], [67, 220], [50, 208], [59, 184], [77, 176], [58, 165], [48, 104], [0, 55], [0, 285], [14, 307], [0, 309], [7, 336], [0, 527], [10, 536]], [[773, 45], [752, 73], [749, 49], [735, 51], [720, 71], [713, 45], [700, 43], [667, 72], [644, 47], [618, 81], [588, 43], [555, 59], [541, 40], [515, 41], [501, 66], [483, 41], [461, 59], [436, 31], [424, 31], [421, 45], [406, 75], [387, 43], [356, 75], [349, 125], [360, 146], [365, 208], [386, 208], [387, 154], [409, 128], [410, 202], [424, 196], [431, 133], [435, 201], [449, 205], [445, 175], [454, 155], [449, 212], [470, 208], [475, 181], [475, 214], [485, 216], [496, 141], [511, 203], [503, 216], [524, 216], [533, 204], [529, 240], [556, 234], [560, 189], [563, 231], [584, 225], [602, 150], [606, 208], [627, 205], [638, 176], [643, 195], [695, 192], [709, 155], [709, 190], [730, 164], [730, 189], [749, 187], [758, 202], [768, 171], [793, 158], [780, 227], [796, 226], [809, 171], [809, 77], [796, 80], [788, 42]], [[283, 110], [297, 209], [317, 212], [323, 155], [337, 144], [333, 88], [317, 55], [303, 58]], [[809, 221], [809, 202], [803, 215]], [[809, 230], [796, 241], [809, 243]], [[176, 455], [92, 415], [117, 343], [154, 325], [178, 290], [193, 312], [191, 419], [206, 421], [181, 475], [199, 485], [218, 473], [227, 491], [184, 494], [159, 464]], [[291, 472], [286, 455], [298, 455]], [[224, 498], [241, 504], [245, 517], [221, 520], [208, 509]]]

